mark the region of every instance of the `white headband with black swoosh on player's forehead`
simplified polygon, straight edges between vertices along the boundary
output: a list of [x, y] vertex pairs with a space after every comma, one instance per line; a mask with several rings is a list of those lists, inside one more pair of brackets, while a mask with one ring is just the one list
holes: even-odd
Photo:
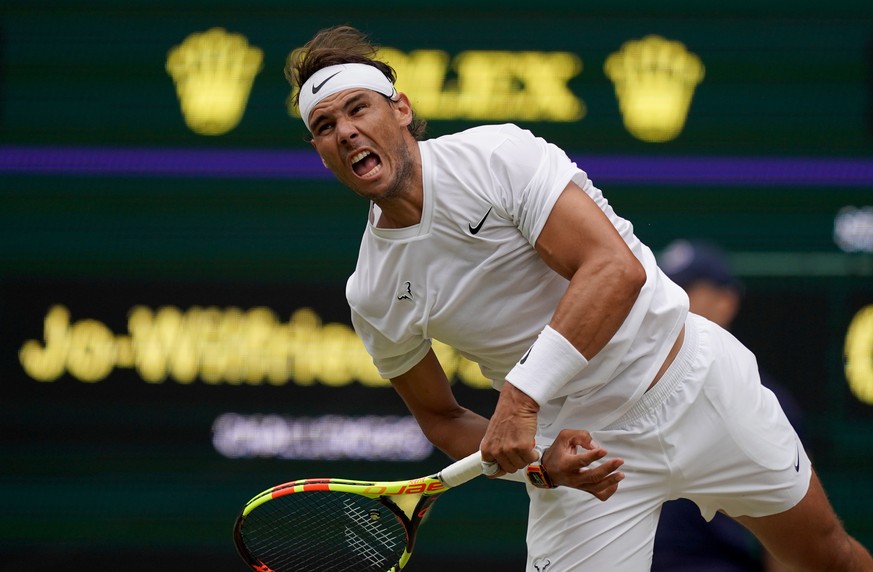
[[[364, 88], [394, 99], [394, 85], [373, 66], [367, 64], [339, 64], [321, 68], [300, 88], [300, 117], [309, 129], [309, 114], [321, 100], [346, 89]], [[312, 132], [312, 129], [309, 129]]]

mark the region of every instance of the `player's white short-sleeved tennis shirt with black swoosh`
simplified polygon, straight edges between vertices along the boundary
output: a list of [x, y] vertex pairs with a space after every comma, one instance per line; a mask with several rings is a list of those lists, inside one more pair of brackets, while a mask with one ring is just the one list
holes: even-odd
[[[595, 430], [645, 391], [685, 322], [688, 297], [651, 250], [558, 147], [511, 124], [422, 141], [419, 224], [375, 226], [372, 206], [346, 285], [352, 323], [385, 378], [408, 371], [431, 339], [479, 364], [499, 389], [549, 323], [568, 282], [533, 245], [572, 180], [606, 213], [647, 280], [610, 343], [578, 378], [541, 403], [540, 431]], [[580, 417], [581, 416], [581, 417]], [[570, 419], [573, 419], [570, 422]]]

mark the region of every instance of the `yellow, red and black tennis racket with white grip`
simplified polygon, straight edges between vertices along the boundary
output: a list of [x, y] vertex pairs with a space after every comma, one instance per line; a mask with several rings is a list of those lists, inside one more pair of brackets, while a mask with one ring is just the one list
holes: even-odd
[[257, 572], [397, 572], [409, 561], [418, 527], [436, 499], [496, 470], [477, 451], [409, 481], [292, 481], [246, 503], [234, 541]]

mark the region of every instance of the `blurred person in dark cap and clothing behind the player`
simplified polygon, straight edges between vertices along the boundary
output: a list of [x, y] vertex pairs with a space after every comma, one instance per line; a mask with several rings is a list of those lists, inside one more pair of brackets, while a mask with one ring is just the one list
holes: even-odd
[[[661, 269], [681, 286], [689, 310], [730, 330], [742, 305], [744, 287], [724, 250], [704, 240], [675, 240], [659, 257]], [[802, 412], [794, 397], [765, 372], [761, 383], [779, 400], [803, 439]], [[717, 513], [707, 522], [687, 499], [664, 504], [655, 533], [653, 572], [780, 572], [787, 570], [737, 521]]]

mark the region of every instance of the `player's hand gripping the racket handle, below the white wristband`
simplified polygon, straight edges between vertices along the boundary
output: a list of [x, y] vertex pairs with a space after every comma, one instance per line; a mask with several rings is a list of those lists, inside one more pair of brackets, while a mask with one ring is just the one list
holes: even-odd
[[501, 473], [514, 473], [536, 460], [534, 439], [539, 405], [509, 382], [503, 384], [480, 450], [484, 461], [497, 461]]

